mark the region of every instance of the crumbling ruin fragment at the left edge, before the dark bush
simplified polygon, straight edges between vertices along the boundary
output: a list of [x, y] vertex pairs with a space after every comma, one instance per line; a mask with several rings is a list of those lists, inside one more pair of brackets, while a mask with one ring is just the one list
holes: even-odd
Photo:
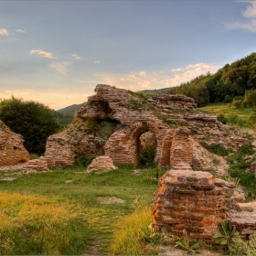
[[29, 153], [23, 143], [23, 137], [13, 133], [0, 120], [0, 166], [26, 163], [29, 160]]

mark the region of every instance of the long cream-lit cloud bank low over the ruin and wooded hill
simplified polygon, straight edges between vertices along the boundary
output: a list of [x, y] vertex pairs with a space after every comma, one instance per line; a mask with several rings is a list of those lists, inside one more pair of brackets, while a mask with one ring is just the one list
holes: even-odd
[[219, 66], [211, 63], [196, 63], [187, 65], [185, 68], [165, 71], [140, 71], [123, 75], [101, 74], [98, 81], [99, 83], [107, 83], [132, 91], [154, 90], [177, 86], [201, 74], [206, 74], [207, 72], [214, 73], [218, 69], [220, 69]]

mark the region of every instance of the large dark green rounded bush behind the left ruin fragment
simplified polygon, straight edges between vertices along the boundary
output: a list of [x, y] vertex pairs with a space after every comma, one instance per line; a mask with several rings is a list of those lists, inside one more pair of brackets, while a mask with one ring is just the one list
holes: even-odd
[[35, 101], [21, 98], [0, 100], [0, 120], [13, 132], [20, 133], [27, 151], [42, 155], [48, 136], [59, 132], [59, 122], [54, 111]]

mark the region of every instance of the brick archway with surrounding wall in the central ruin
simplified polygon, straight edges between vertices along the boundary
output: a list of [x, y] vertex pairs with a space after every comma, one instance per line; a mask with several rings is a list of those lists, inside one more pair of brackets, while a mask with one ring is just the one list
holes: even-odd
[[148, 131], [155, 134], [155, 163], [158, 163], [167, 130], [159, 129], [155, 123], [146, 121], [134, 122], [112, 133], [105, 144], [105, 155], [109, 155], [114, 163], [136, 165], [139, 161], [139, 138]]

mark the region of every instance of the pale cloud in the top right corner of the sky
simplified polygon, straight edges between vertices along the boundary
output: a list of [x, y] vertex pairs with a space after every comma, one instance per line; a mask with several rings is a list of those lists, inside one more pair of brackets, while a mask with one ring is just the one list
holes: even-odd
[[[245, 1], [248, 2], [248, 1]], [[233, 22], [227, 24], [229, 29], [245, 29], [252, 33], [256, 32], [256, 2], [248, 2], [250, 5], [241, 14], [244, 16], [246, 22]]]

